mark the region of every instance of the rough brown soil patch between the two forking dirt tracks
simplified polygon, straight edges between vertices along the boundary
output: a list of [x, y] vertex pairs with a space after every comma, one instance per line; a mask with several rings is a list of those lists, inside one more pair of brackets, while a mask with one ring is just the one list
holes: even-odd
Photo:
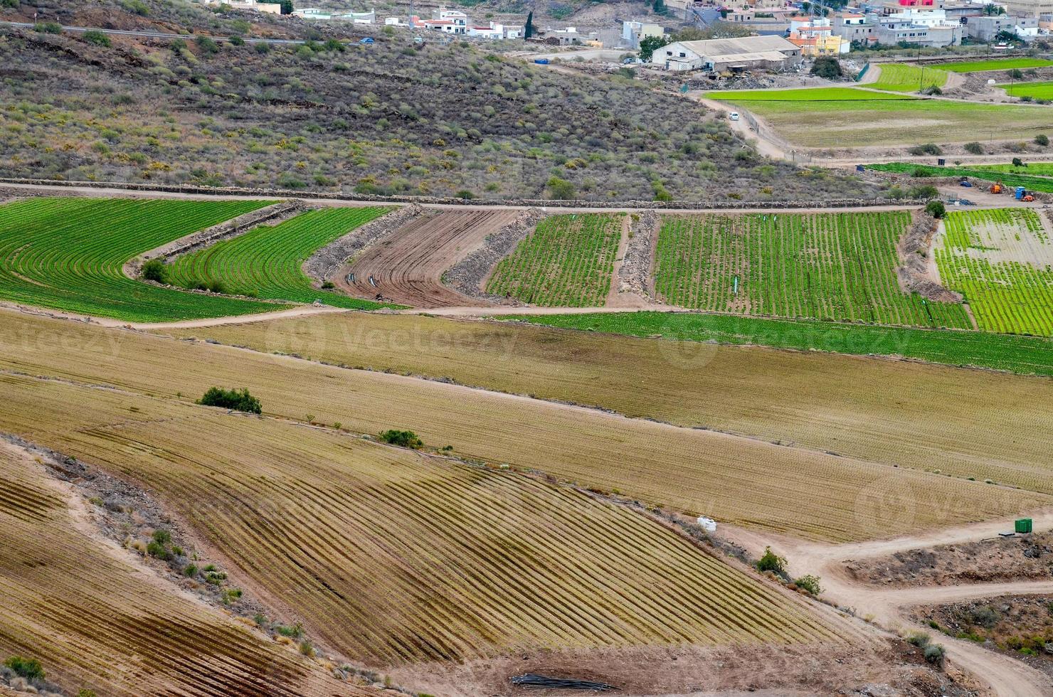
[[854, 580], [893, 586], [1049, 580], [1053, 531], [908, 550], [845, 566]]

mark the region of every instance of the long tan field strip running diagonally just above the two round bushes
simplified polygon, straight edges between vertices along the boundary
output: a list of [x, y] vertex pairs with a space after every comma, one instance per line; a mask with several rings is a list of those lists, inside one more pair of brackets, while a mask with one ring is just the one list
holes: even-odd
[[[629, 420], [435, 381], [12, 313], [5, 313], [4, 320], [0, 366], [9, 370], [168, 398], [177, 393], [198, 396], [214, 384], [247, 386], [272, 414], [294, 419], [311, 415], [315, 421], [340, 422], [359, 433], [410, 427], [425, 443], [452, 445], [460, 456], [540, 470], [584, 485], [620, 490], [651, 503], [815, 539], [894, 535], [1012, 515], [1051, 502], [1046, 495], [789, 444]], [[68, 351], [69, 345], [77, 350]], [[172, 365], [181, 366], [178, 374], [172, 373]], [[857, 381], [858, 374], [853, 371], [848, 378], [842, 374], [842, 380]], [[772, 413], [781, 413], [786, 423], [812, 418], [778, 405]], [[816, 413], [831, 410], [822, 405]], [[842, 425], [849, 422], [843, 427], [851, 429], [851, 418], [837, 420]], [[917, 438], [916, 433], [911, 436]], [[984, 451], [982, 445], [973, 447]], [[1048, 474], [1034, 462], [988, 466], [1025, 482], [1049, 484]], [[890, 495], [899, 497], [896, 501], [909, 513], [882, 510]]]

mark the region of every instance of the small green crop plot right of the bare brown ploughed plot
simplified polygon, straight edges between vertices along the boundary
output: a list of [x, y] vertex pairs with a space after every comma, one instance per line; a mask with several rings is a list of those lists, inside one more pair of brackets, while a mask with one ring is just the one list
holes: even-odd
[[623, 221], [605, 214], [545, 218], [494, 267], [486, 293], [535, 305], [604, 304]]

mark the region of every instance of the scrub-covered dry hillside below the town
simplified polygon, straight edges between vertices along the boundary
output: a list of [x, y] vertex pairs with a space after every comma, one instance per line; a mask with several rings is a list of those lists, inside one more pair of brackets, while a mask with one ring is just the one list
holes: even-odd
[[[246, 31], [211, 13], [155, 22], [171, 14], [164, 3], [145, 18], [108, 0], [98, 12], [62, 4], [72, 7], [48, 17], [67, 24]], [[309, 35], [306, 23], [283, 26]], [[639, 81], [569, 76], [466, 42], [412, 48], [405, 34], [341, 31], [377, 42], [341, 51], [322, 36], [259, 53], [0, 29], [0, 176], [591, 200], [871, 191], [742, 151], [702, 106]], [[654, 118], [664, 113], [679, 118]]]

